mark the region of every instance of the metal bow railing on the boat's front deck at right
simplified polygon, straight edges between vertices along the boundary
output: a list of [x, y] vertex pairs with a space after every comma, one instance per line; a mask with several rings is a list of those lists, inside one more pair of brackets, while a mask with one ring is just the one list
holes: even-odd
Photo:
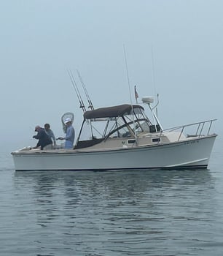
[[182, 135], [186, 135], [186, 134], [187, 134], [187, 138], [189, 138], [189, 137], [200, 138], [203, 136], [210, 135], [211, 126], [212, 126], [213, 122], [216, 120], [217, 119], [211, 119], [211, 120], [200, 121], [200, 122], [192, 123], [192, 124], [184, 124], [179, 127], [171, 127], [168, 129], [163, 129], [160, 132], [160, 135], [162, 135], [163, 132], [174, 132], [177, 130], [180, 132], [178, 141], [181, 139]]

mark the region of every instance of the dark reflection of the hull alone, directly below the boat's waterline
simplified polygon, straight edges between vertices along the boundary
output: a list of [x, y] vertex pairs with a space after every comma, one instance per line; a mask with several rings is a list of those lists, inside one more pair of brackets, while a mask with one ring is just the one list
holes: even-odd
[[[150, 189], [170, 189], [179, 186], [214, 186], [208, 170], [136, 170], [121, 172], [15, 172], [15, 187], [30, 186], [36, 195], [51, 197], [62, 189], [65, 197], [95, 196], [139, 197]], [[61, 191], [60, 191], [61, 192]]]

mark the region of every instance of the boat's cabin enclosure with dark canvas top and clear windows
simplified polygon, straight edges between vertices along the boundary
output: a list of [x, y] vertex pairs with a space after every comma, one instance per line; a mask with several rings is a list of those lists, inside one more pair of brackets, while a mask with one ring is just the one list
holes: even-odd
[[86, 111], [74, 146], [87, 148], [102, 141], [133, 138], [138, 134], [160, 132], [160, 125], [152, 124], [141, 105], [117, 105]]

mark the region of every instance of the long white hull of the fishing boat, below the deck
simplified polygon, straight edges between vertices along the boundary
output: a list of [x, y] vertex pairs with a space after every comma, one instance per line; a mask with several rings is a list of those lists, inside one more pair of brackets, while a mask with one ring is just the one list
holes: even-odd
[[15, 170], [135, 170], [206, 168], [216, 135], [109, 150], [14, 151]]

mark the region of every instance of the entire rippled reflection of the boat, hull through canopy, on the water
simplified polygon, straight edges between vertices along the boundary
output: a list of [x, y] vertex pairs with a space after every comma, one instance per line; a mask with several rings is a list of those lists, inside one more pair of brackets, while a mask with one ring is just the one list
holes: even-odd
[[38, 227], [60, 227], [66, 235], [69, 228], [75, 237], [88, 234], [85, 239], [101, 236], [101, 230], [120, 236], [163, 236], [161, 222], [170, 216], [195, 218], [187, 216], [195, 195], [206, 205], [213, 200], [214, 183], [209, 170], [36, 171], [14, 176], [17, 200], [30, 207], [28, 218]]

